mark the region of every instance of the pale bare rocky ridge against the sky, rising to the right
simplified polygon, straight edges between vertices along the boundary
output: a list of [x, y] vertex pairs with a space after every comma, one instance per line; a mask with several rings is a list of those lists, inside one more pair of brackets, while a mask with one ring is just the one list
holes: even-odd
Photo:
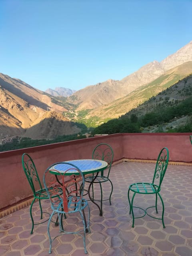
[[188, 61], [192, 61], [192, 41], [161, 62], [156, 60], [150, 62], [122, 80], [107, 80], [87, 86], [68, 97], [67, 101], [76, 104], [77, 110], [104, 106], [152, 82], [171, 68]]

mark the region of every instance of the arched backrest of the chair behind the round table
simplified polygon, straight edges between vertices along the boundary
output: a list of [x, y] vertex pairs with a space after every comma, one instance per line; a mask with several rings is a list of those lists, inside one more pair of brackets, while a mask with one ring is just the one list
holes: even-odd
[[[92, 159], [103, 160], [108, 163], [107, 177], [109, 177], [109, 174], [110, 174], [113, 156], [114, 156], [114, 152], [112, 147], [106, 143], [98, 144], [94, 148], [92, 153]], [[103, 171], [101, 172], [101, 176], [103, 176]]]

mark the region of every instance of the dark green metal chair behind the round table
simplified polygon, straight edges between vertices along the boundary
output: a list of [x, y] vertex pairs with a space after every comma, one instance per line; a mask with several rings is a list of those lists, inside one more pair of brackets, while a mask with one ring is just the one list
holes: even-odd
[[[106, 143], [101, 143], [98, 144], [93, 152], [92, 152], [92, 159], [98, 159], [98, 160], [103, 160], [106, 161], [108, 163], [108, 172], [107, 174], [104, 176], [104, 171], [100, 172], [100, 174], [95, 174], [92, 176], [88, 176], [85, 178], [85, 182], [90, 183], [90, 186], [92, 186], [92, 202], [94, 204], [96, 204], [95, 201], [99, 201], [100, 202], [100, 206], [98, 204], [96, 204], [100, 210], [100, 216], [102, 216], [103, 212], [102, 212], [102, 204], [103, 201], [109, 200], [110, 205], [111, 205], [111, 196], [112, 196], [112, 192], [113, 192], [113, 184], [109, 178], [109, 174], [110, 174], [110, 170], [111, 170], [111, 165], [112, 165], [112, 161], [113, 161], [113, 157], [114, 157], [114, 152], [112, 150], [112, 147]], [[102, 191], [102, 183], [104, 182], [110, 182], [111, 184], [111, 192], [110, 192], [110, 196], [108, 199], [103, 200], [103, 191]], [[99, 184], [100, 185], [100, 191], [101, 191], [101, 198], [100, 200], [96, 200], [94, 199], [94, 184]]]

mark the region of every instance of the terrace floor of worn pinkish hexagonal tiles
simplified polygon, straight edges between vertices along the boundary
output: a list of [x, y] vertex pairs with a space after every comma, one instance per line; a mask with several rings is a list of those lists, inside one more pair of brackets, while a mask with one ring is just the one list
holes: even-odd
[[[91, 234], [86, 235], [88, 255], [91, 256], [191, 256], [192, 255], [192, 167], [169, 165], [162, 183], [161, 195], [165, 204], [164, 222], [145, 216], [135, 220], [129, 215], [128, 185], [151, 181], [154, 164], [123, 162], [112, 167], [110, 178], [114, 184], [112, 205], [104, 202], [103, 216], [90, 202]], [[108, 187], [106, 187], [108, 189]], [[148, 206], [153, 196], [137, 196], [135, 204]], [[49, 202], [43, 203], [48, 209]], [[34, 210], [38, 210], [36, 203]], [[64, 220], [68, 230], [78, 228], [79, 216]], [[30, 234], [29, 207], [0, 219], [1, 256], [47, 256], [47, 222], [34, 227]], [[52, 234], [58, 227], [51, 225]], [[52, 256], [84, 256], [82, 238], [77, 235], [60, 236], [53, 242]]]

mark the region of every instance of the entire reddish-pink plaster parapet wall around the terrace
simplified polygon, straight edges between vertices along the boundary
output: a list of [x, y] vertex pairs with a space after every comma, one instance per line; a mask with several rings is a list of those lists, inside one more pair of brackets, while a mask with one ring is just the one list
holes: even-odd
[[114, 150], [114, 162], [123, 158], [156, 159], [160, 149], [168, 147], [170, 160], [192, 162], [192, 145], [188, 133], [112, 134], [70, 142], [0, 152], [0, 210], [32, 196], [22, 169], [22, 154], [32, 156], [40, 178], [48, 166], [58, 161], [92, 157], [93, 148], [108, 143]]

